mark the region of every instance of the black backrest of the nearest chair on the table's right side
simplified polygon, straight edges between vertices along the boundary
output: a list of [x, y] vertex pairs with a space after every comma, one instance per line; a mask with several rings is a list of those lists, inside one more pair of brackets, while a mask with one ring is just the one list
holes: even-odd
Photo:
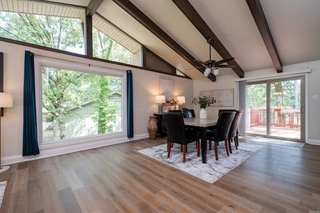
[[216, 122], [214, 142], [225, 141], [228, 139], [228, 133], [235, 116], [235, 112], [221, 112]]

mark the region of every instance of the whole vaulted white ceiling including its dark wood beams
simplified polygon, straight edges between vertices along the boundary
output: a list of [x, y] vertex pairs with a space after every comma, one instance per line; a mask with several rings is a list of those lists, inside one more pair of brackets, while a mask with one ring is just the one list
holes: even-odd
[[320, 60], [319, 0], [49, 0], [87, 6], [192, 79], [194, 59], [235, 59], [219, 75]]

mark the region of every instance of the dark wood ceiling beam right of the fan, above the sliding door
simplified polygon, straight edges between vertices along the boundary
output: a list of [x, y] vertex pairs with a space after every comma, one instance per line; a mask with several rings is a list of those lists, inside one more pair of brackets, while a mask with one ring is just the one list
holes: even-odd
[[264, 44], [269, 52], [273, 65], [277, 72], [282, 72], [282, 63], [276, 50], [268, 23], [266, 22], [262, 6], [259, 0], [246, 0], [256, 26], [258, 27]]

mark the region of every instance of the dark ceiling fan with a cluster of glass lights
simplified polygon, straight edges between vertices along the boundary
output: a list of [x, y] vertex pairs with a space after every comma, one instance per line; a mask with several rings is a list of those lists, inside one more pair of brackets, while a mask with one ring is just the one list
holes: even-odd
[[[206, 40], [209, 44], [209, 60], [203, 62], [203, 61], [199, 61], [199, 60], [194, 60], [195, 62], [198, 62], [200, 64], [203, 64], [203, 66], [199, 66], [199, 67], [194, 67], [194, 68], [190, 68], [190, 69], [195, 69], [195, 68], [200, 68], [200, 67], [205, 67], [205, 70], [204, 70], [204, 76], [208, 76], [211, 72], [213, 72], [213, 74], [216, 76], [219, 74], [219, 70], [218, 70], [218, 67], [229, 67], [229, 68], [233, 68], [235, 67], [234, 65], [228, 65], [228, 64], [221, 64], [221, 63], [225, 63], [227, 61], [230, 61], [230, 60], [233, 60], [234, 58], [231, 57], [231, 58], [225, 58], [225, 59], [222, 59], [222, 60], [219, 60], [219, 61], [215, 61], [215, 60], [211, 60], [211, 44], [213, 43], [213, 39], [209, 38]], [[212, 70], [212, 68], [214, 68]]]

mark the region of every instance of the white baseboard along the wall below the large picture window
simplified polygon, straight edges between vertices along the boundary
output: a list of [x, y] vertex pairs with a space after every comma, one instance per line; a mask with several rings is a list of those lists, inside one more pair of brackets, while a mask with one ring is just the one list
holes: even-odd
[[125, 143], [125, 142], [148, 138], [148, 137], [149, 137], [148, 134], [141, 134], [141, 135], [135, 135], [133, 138], [118, 137], [118, 138], [112, 138], [107, 140], [74, 144], [74, 145], [64, 146], [64, 147], [44, 149], [44, 150], [40, 150], [40, 154], [34, 155], [34, 156], [15, 155], [15, 156], [1, 158], [1, 164], [9, 165], [9, 164], [15, 164], [15, 163], [24, 162], [24, 161], [32, 161], [32, 160], [47, 158], [47, 157], [56, 156], [56, 155], [63, 155], [71, 152], [78, 152], [82, 150], [104, 147], [104, 146], [109, 146], [113, 144]]

